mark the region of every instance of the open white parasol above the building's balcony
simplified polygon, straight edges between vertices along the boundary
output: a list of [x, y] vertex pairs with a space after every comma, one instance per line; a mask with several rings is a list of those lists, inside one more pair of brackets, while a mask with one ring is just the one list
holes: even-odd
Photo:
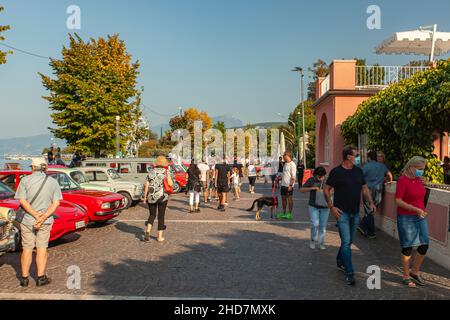
[[435, 55], [450, 52], [450, 32], [437, 32], [437, 25], [396, 32], [376, 49], [377, 54], [426, 54], [430, 62]]

